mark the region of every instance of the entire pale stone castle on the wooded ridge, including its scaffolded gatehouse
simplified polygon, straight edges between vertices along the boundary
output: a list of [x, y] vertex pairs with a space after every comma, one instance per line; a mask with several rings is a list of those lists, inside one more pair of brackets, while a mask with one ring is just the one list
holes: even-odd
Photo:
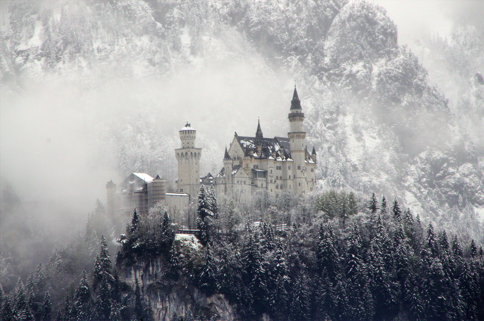
[[159, 176], [132, 173], [118, 187], [106, 184], [107, 212], [130, 212], [136, 207], [141, 212], [159, 201], [173, 211], [182, 210], [197, 199], [200, 185], [213, 185], [216, 196], [230, 195], [236, 201], [248, 201], [257, 192], [277, 193], [282, 190], [297, 195], [315, 189], [316, 151], [311, 154], [305, 145], [304, 113], [296, 86], [288, 114], [290, 132], [285, 137], [264, 138], [257, 123], [255, 137], [238, 136], [235, 132], [230, 147], [225, 149], [224, 167], [213, 177], [200, 177], [202, 149], [195, 147], [197, 131], [188, 122], [181, 128], [181, 147], [175, 149], [178, 162], [176, 193], [166, 193], [166, 182]]

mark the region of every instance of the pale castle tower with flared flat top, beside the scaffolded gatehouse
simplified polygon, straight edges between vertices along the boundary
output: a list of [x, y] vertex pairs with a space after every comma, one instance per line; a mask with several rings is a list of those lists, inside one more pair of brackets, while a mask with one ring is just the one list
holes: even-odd
[[180, 130], [181, 148], [175, 150], [178, 161], [178, 191], [190, 195], [190, 201], [197, 199], [200, 188], [202, 149], [195, 148], [196, 137], [197, 131], [187, 122]]

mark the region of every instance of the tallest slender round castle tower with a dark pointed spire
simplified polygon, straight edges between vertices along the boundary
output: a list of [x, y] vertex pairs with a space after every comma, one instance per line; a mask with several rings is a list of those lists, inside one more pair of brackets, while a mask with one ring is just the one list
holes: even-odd
[[305, 149], [304, 142], [306, 132], [302, 129], [304, 114], [302, 113], [301, 101], [294, 85], [294, 94], [292, 95], [291, 108], [289, 110], [290, 132], [287, 133], [291, 147], [291, 158], [294, 163], [291, 168], [294, 182], [294, 192], [297, 194], [306, 193], [306, 166], [305, 166]]

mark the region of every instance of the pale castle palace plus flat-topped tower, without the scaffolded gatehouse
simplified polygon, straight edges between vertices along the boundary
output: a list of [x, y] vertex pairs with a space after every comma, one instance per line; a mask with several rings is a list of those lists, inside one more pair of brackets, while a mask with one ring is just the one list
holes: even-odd
[[264, 138], [257, 123], [255, 137], [238, 136], [237, 132], [225, 150], [224, 167], [213, 177], [210, 173], [198, 179], [201, 149], [195, 148], [196, 131], [189, 123], [180, 130], [181, 148], [178, 160], [178, 191], [197, 197], [200, 184], [215, 186], [216, 195], [231, 194], [238, 200], [249, 200], [257, 190], [270, 193], [287, 189], [296, 194], [314, 190], [316, 183], [316, 151], [309, 153], [303, 130], [304, 113], [294, 87], [286, 137]]

